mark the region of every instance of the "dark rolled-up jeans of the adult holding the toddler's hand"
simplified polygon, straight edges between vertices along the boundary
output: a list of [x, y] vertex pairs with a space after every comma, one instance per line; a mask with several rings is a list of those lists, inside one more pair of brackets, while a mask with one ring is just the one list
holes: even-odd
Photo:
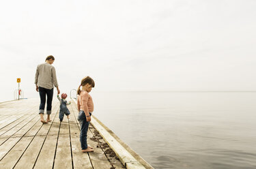
[[52, 112], [52, 102], [53, 102], [53, 89], [45, 89], [44, 87], [38, 87], [39, 95], [40, 95], [40, 106], [39, 106], [39, 114], [44, 114], [44, 107], [47, 95], [47, 108], [46, 114], [51, 114]]

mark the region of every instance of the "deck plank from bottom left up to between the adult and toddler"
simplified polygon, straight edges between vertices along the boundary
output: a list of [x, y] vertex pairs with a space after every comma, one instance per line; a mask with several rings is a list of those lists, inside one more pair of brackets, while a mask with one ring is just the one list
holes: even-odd
[[[53, 122], [50, 123], [51, 125], [49, 125], [49, 130], [47, 130], [47, 128], [40, 129], [40, 131], [38, 132], [38, 134], [36, 134], [35, 138], [32, 140], [31, 144], [14, 168], [33, 168], [36, 159], [38, 158], [38, 155], [40, 153], [40, 150], [44, 144], [44, 140], [46, 139], [47, 132], [49, 131], [49, 134], [51, 132], [51, 129], [53, 129], [53, 124], [58, 122], [57, 110], [53, 110], [53, 115], [54, 114], [55, 117], [53, 118]], [[47, 125], [43, 125], [43, 127], [44, 126]]]

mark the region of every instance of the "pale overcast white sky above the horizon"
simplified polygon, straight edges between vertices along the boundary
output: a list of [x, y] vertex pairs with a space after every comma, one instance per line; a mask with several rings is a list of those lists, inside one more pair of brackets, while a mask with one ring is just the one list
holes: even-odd
[[255, 91], [256, 1], [1, 1], [0, 101], [38, 97], [38, 64], [55, 57], [61, 93]]

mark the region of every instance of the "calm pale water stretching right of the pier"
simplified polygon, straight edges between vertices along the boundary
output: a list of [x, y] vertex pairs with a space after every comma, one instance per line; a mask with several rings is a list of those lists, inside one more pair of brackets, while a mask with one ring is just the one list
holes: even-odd
[[256, 168], [256, 93], [94, 93], [94, 115], [154, 168]]

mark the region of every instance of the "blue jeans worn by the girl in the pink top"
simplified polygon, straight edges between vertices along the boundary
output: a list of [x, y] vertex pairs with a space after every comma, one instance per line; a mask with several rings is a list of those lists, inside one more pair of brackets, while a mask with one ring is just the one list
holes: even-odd
[[[91, 116], [91, 112], [89, 112]], [[87, 149], [87, 131], [89, 127], [89, 121], [86, 121], [85, 112], [81, 110], [79, 112], [79, 116], [77, 117], [80, 125], [81, 125], [81, 132], [80, 132], [80, 142], [82, 150]]]

